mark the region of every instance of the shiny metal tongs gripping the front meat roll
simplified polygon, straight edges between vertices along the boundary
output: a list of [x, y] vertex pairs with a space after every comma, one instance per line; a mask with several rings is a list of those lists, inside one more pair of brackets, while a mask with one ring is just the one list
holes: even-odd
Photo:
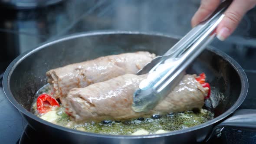
[[208, 20], [191, 29], [163, 56], [158, 56], [138, 71], [137, 75], [148, 75], [140, 82], [139, 89], [134, 93], [133, 111], [151, 110], [173, 90], [184, 76], [187, 66], [216, 36], [214, 30], [223, 19], [223, 12], [230, 3], [230, 0], [221, 3]]

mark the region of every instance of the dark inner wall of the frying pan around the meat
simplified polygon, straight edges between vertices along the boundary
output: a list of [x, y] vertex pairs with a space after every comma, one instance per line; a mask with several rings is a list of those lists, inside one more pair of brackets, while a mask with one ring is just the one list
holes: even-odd
[[[36, 91], [47, 83], [45, 74], [49, 69], [123, 52], [149, 51], [162, 55], [176, 42], [176, 38], [169, 36], [140, 33], [103, 33], [62, 39], [20, 56], [23, 59], [16, 61], [9, 73], [8, 86], [14, 100], [30, 111]], [[239, 99], [241, 75], [214, 49], [204, 50], [187, 69], [188, 74], [201, 72], [206, 73], [212, 87], [213, 112], [214, 117], [218, 117]]]

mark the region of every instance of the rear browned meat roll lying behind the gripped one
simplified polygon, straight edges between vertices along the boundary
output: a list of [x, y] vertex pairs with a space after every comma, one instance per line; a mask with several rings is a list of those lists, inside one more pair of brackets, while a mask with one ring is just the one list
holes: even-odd
[[155, 57], [149, 52], [123, 53], [66, 65], [46, 72], [53, 96], [66, 96], [72, 88], [84, 88], [127, 73], [135, 74]]

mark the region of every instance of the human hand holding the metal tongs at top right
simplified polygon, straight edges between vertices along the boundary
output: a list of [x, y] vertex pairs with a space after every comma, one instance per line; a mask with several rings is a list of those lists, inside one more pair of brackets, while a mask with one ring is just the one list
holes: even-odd
[[[206, 20], [216, 10], [220, 2], [221, 0], [201, 0], [201, 5], [191, 20], [192, 27]], [[256, 0], [233, 0], [216, 29], [217, 38], [223, 41], [230, 36], [246, 12], [255, 5]]]

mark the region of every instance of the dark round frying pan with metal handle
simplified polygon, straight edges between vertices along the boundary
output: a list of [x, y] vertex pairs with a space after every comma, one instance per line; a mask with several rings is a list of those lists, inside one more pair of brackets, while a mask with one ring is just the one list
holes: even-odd
[[[66, 36], [18, 56], [3, 76], [3, 89], [10, 102], [35, 130], [46, 133], [51, 142], [84, 144], [167, 144], [206, 141], [223, 127], [256, 128], [256, 111], [239, 110], [248, 81], [241, 66], [219, 50], [208, 47], [190, 65], [187, 73], [207, 74], [210, 83], [214, 118], [203, 124], [165, 134], [145, 136], [113, 136], [76, 131], [44, 121], [30, 112], [36, 91], [45, 85], [46, 71], [75, 62], [122, 52], [145, 50], [162, 55], [178, 40], [177, 36], [140, 32], [92, 32]], [[213, 128], [215, 126], [215, 128]], [[47, 137], [43, 137], [47, 139]], [[39, 140], [41, 141], [41, 140]]]

